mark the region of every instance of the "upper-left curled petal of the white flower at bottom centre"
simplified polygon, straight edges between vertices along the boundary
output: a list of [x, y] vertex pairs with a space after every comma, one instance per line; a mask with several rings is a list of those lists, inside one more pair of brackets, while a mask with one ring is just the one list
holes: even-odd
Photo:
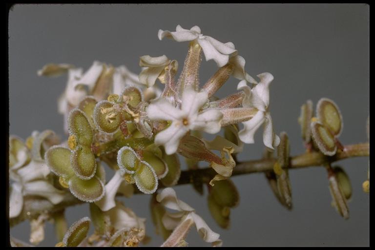
[[166, 208], [177, 211], [194, 211], [194, 208], [191, 208], [185, 202], [177, 199], [176, 192], [171, 187], [163, 189], [163, 191], [156, 196], [156, 200]]

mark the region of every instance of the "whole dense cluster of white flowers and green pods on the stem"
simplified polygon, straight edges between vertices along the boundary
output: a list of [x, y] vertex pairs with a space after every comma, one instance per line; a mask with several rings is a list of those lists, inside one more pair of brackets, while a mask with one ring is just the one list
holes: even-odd
[[[205, 36], [198, 26], [188, 30], [177, 25], [173, 32], [159, 30], [158, 38], [165, 37], [189, 42], [178, 80], [175, 76], [179, 64], [166, 55], [140, 57], [139, 75], [123, 65], [114, 67], [99, 61], [93, 62], [86, 72], [71, 64], [53, 63], [38, 71], [39, 75], [50, 77], [67, 73], [58, 108], [64, 115], [69, 138], [61, 145], [54, 142], [41, 148], [45, 138], [35, 137], [39, 139], [35, 139], [32, 150], [37, 152], [37, 158], [30, 158], [31, 147], [28, 149], [11, 137], [11, 218], [21, 214], [24, 196], [44, 197], [59, 204], [64, 197], [70, 197], [70, 192], [74, 195], [72, 199], [91, 203], [91, 220], [83, 218], [66, 233], [62, 229], [62, 242], [58, 245], [83, 246], [96, 240], [103, 246], [137, 246], [146, 239], [144, 219], [116, 196], [129, 198], [138, 187], [145, 194], [155, 193], [154, 202], [161, 206], [161, 213], [156, 216], [161, 216], [159, 227], [166, 232], [163, 246], [185, 245], [187, 231], [193, 225], [206, 242], [221, 246], [220, 235], [193, 208], [178, 200], [170, 188], [178, 183], [181, 174], [177, 154], [195, 163], [206, 161], [216, 171], [209, 182], [209, 206], [217, 212], [216, 218], [227, 220], [229, 208], [237, 204], [231, 201], [237, 200], [231, 199], [236, 195], [225, 195], [236, 193], [234, 185], [226, 180], [236, 165], [231, 154], [241, 152], [244, 143], [254, 143], [254, 133], [261, 125], [264, 145], [270, 151], [280, 143], [269, 111], [273, 76], [261, 73], [258, 83], [245, 71], [245, 59], [238, 55], [232, 42]], [[219, 68], [200, 85], [202, 52], [206, 61], [213, 60]], [[214, 94], [230, 76], [240, 80], [238, 92], [217, 98]], [[157, 87], [157, 81], [164, 84], [163, 90]], [[242, 129], [239, 123], [243, 124]], [[225, 137], [216, 136], [213, 141], [200, 134], [216, 134], [222, 128]], [[220, 156], [211, 150], [220, 151]], [[108, 181], [101, 162], [114, 171]], [[220, 181], [213, 189], [214, 183]], [[167, 188], [157, 194], [159, 182]], [[178, 212], [170, 213], [164, 207]], [[90, 221], [96, 231], [86, 239]]]

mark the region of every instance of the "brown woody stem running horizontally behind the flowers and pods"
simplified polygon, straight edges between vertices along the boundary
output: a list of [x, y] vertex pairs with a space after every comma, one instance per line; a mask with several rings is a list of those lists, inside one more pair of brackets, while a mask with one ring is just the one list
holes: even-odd
[[[293, 156], [290, 158], [290, 168], [324, 167], [327, 163], [331, 164], [347, 158], [369, 155], [369, 143], [346, 145], [343, 147], [342, 151], [338, 150], [338, 152], [333, 156], [325, 156], [320, 152], [306, 152]], [[232, 176], [269, 171], [273, 169], [275, 162], [276, 159], [274, 158], [237, 162], [236, 167], [233, 169]], [[182, 171], [177, 185], [192, 184], [194, 180], [197, 180], [197, 178], [200, 178], [203, 183], [208, 183], [215, 174], [216, 172], [210, 167]], [[164, 188], [164, 186], [160, 184], [158, 188]], [[135, 188], [134, 191], [136, 194], [143, 194], [137, 188]], [[45, 199], [26, 197], [21, 214], [16, 218], [10, 219], [10, 226], [16, 226], [26, 219], [36, 218], [43, 212], [48, 211], [53, 213], [77, 204], [83, 204], [83, 202], [75, 198], [70, 193], [66, 193], [63, 201], [57, 205], [53, 205]]]

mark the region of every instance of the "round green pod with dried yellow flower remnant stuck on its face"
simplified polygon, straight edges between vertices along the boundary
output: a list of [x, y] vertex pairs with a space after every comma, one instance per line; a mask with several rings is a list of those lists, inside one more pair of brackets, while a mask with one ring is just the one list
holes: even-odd
[[115, 132], [121, 122], [121, 115], [114, 107], [114, 103], [108, 101], [101, 101], [95, 105], [93, 118], [96, 127], [105, 132]]

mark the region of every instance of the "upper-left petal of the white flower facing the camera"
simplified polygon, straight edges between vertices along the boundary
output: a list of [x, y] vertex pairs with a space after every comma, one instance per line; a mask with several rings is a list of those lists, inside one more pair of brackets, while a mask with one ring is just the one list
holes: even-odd
[[175, 108], [165, 98], [152, 101], [147, 107], [147, 116], [151, 120], [174, 121], [183, 117], [183, 112]]

